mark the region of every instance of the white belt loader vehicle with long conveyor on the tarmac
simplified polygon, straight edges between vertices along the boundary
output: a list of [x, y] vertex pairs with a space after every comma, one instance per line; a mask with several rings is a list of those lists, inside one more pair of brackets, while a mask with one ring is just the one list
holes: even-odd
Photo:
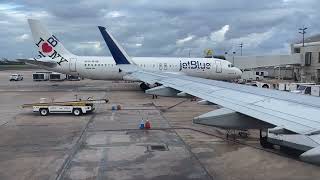
[[108, 102], [108, 99], [88, 99], [65, 102], [40, 102], [23, 104], [22, 108], [32, 108], [33, 112], [38, 112], [41, 116], [47, 116], [50, 113], [72, 113], [75, 116], [80, 116], [82, 114], [94, 111], [95, 104], [105, 104]]

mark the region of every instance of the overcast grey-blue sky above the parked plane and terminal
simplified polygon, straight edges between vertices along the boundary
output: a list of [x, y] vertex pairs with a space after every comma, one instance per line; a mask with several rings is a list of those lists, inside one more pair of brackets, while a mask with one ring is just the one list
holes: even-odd
[[288, 54], [289, 44], [320, 32], [317, 0], [1, 0], [0, 57], [33, 57], [27, 18], [41, 20], [71, 52], [110, 55], [106, 26], [130, 56]]

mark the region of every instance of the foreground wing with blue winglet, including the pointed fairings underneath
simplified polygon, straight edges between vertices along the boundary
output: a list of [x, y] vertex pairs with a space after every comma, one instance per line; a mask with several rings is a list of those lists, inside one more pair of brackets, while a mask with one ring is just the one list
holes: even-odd
[[99, 30], [123, 72], [143, 82], [162, 85], [146, 93], [164, 96], [188, 94], [218, 104], [223, 108], [196, 117], [194, 122], [202, 121], [226, 129], [260, 129], [263, 147], [271, 147], [272, 142], [268, 137], [262, 137], [262, 130], [273, 128], [268, 130], [268, 134], [285, 136], [288, 140], [288, 143], [280, 144], [282, 147], [303, 151], [300, 155], [302, 160], [320, 164], [318, 97], [142, 69], [134, 64], [106, 28], [99, 26]]

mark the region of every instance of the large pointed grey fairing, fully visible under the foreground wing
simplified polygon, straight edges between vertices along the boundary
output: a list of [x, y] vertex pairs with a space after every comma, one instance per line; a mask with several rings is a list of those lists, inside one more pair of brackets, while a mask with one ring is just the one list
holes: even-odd
[[227, 108], [217, 109], [193, 119], [196, 124], [215, 126], [224, 129], [266, 129], [274, 125], [240, 114]]

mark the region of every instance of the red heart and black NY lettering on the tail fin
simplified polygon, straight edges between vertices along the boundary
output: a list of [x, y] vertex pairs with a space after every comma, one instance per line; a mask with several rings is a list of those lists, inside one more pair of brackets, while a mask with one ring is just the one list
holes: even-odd
[[50, 57], [52, 60], [58, 61], [57, 64], [61, 66], [62, 62], [68, 62], [60, 53], [58, 53], [54, 48], [59, 45], [58, 39], [52, 35], [48, 39], [39, 38], [36, 46], [39, 47], [39, 58]]

